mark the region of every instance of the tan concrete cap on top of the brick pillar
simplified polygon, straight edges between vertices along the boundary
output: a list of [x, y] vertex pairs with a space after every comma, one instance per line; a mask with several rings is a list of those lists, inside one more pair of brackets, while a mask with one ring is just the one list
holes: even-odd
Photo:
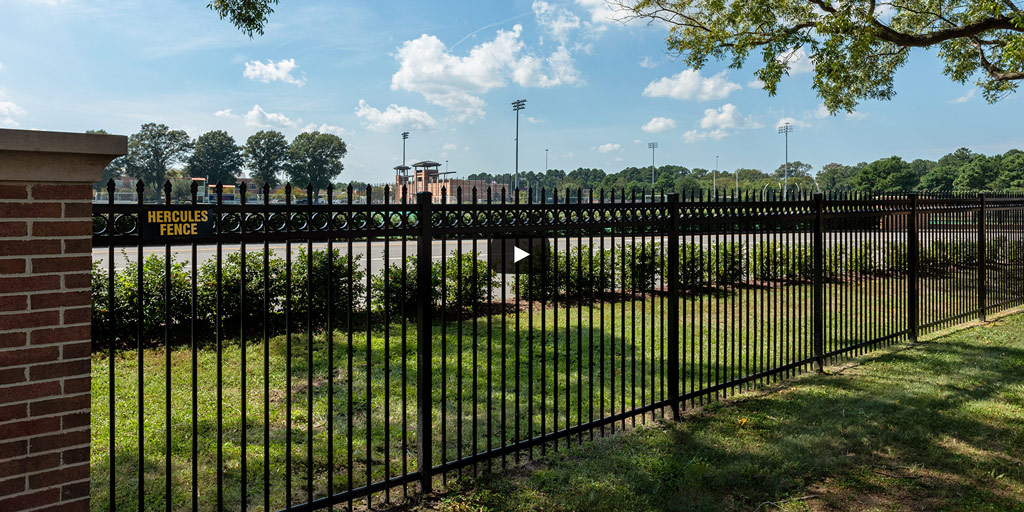
[[124, 135], [0, 129], [0, 181], [92, 182], [127, 152]]

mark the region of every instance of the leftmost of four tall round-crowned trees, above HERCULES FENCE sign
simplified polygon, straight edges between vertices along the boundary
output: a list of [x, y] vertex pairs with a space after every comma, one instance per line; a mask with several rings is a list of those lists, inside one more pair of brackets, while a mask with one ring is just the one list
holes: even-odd
[[159, 197], [167, 170], [187, 160], [193, 141], [183, 130], [146, 123], [128, 137], [127, 172], [145, 182], [150, 197]]

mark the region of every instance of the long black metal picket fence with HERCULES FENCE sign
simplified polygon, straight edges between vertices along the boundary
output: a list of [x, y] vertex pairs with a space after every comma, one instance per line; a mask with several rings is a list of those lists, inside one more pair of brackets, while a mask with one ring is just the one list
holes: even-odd
[[1024, 301], [1020, 197], [137, 191], [93, 214], [96, 509], [394, 502]]

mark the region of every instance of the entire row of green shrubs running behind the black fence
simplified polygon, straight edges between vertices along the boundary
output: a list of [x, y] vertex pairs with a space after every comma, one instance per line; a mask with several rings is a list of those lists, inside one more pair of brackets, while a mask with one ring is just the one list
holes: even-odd
[[[994, 238], [986, 246], [986, 255], [989, 262], [1024, 263], [1024, 242]], [[730, 242], [706, 247], [683, 244], [679, 254], [679, 285], [682, 290], [699, 291], [739, 284], [808, 282], [813, 279], [812, 256], [809, 244]], [[215, 261], [203, 263], [196, 275], [195, 306], [190, 271], [184, 262], [173, 257], [169, 273], [161, 256], [151, 255], [143, 260], [141, 294], [137, 263], [129, 262], [116, 271], [113, 302], [108, 293], [106, 270], [94, 265], [93, 340], [101, 347], [112, 341], [133, 345], [139, 334], [134, 322], [139, 300], [144, 344], [162, 344], [165, 307], [170, 321], [166, 324], [166, 334], [172, 343], [189, 340], [194, 326], [198, 340], [214, 339], [218, 319], [221, 336], [236, 338], [242, 332], [243, 319], [247, 334], [262, 336], [264, 330], [270, 335], [283, 333], [289, 324], [296, 332], [306, 331], [310, 323], [316, 331], [326, 329], [329, 311], [338, 328], [416, 314], [419, 294], [415, 256], [408, 257], [404, 265], [390, 263], [383, 271], [368, 276], [361, 255], [349, 264], [348, 257], [335, 249], [330, 280], [327, 251], [313, 251], [307, 257], [304, 248], [299, 248], [290, 269], [284, 259], [270, 255], [266, 275], [261, 251], [249, 252], [245, 258], [244, 280], [240, 253], [231, 253], [224, 259], [219, 274]], [[513, 292], [526, 300], [559, 297], [588, 300], [611, 293], [663, 290], [664, 276], [668, 275], [665, 247], [657, 243], [614, 249], [581, 246], [567, 251], [542, 251], [529, 261], [534, 265], [530, 271], [509, 280]], [[958, 267], [977, 265], [978, 246], [974, 242], [934, 241], [924, 246], [920, 262], [922, 275], [942, 275]], [[829, 281], [904, 275], [907, 270], [906, 245], [902, 243], [835, 245], [824, 253], [824, 278]], [[481, 306], [489, 302], [488, 290], [500, 291], [502, 287], [495, 271], [476, 252], [466, 252], [461, 257], [453, 252], [443, 261], [433, 262], [430, 274], [430, 300], [435, 307], [457, 313], [480, 313]], [[166, 305], [165, 278], [170, 283], [170, 301]], [[329, 289], [333, 293], [330, 306]]]

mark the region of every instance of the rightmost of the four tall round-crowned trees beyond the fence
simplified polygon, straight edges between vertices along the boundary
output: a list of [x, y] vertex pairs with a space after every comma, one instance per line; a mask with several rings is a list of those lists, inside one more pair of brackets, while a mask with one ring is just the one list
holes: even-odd
[[288, 148], [288, 178], [296, 185], [310, 184], [313, 194], [319, 194], [345, 168], [341, 159], [346, 153], [345, 142], [333, 133], [300, 133]]

